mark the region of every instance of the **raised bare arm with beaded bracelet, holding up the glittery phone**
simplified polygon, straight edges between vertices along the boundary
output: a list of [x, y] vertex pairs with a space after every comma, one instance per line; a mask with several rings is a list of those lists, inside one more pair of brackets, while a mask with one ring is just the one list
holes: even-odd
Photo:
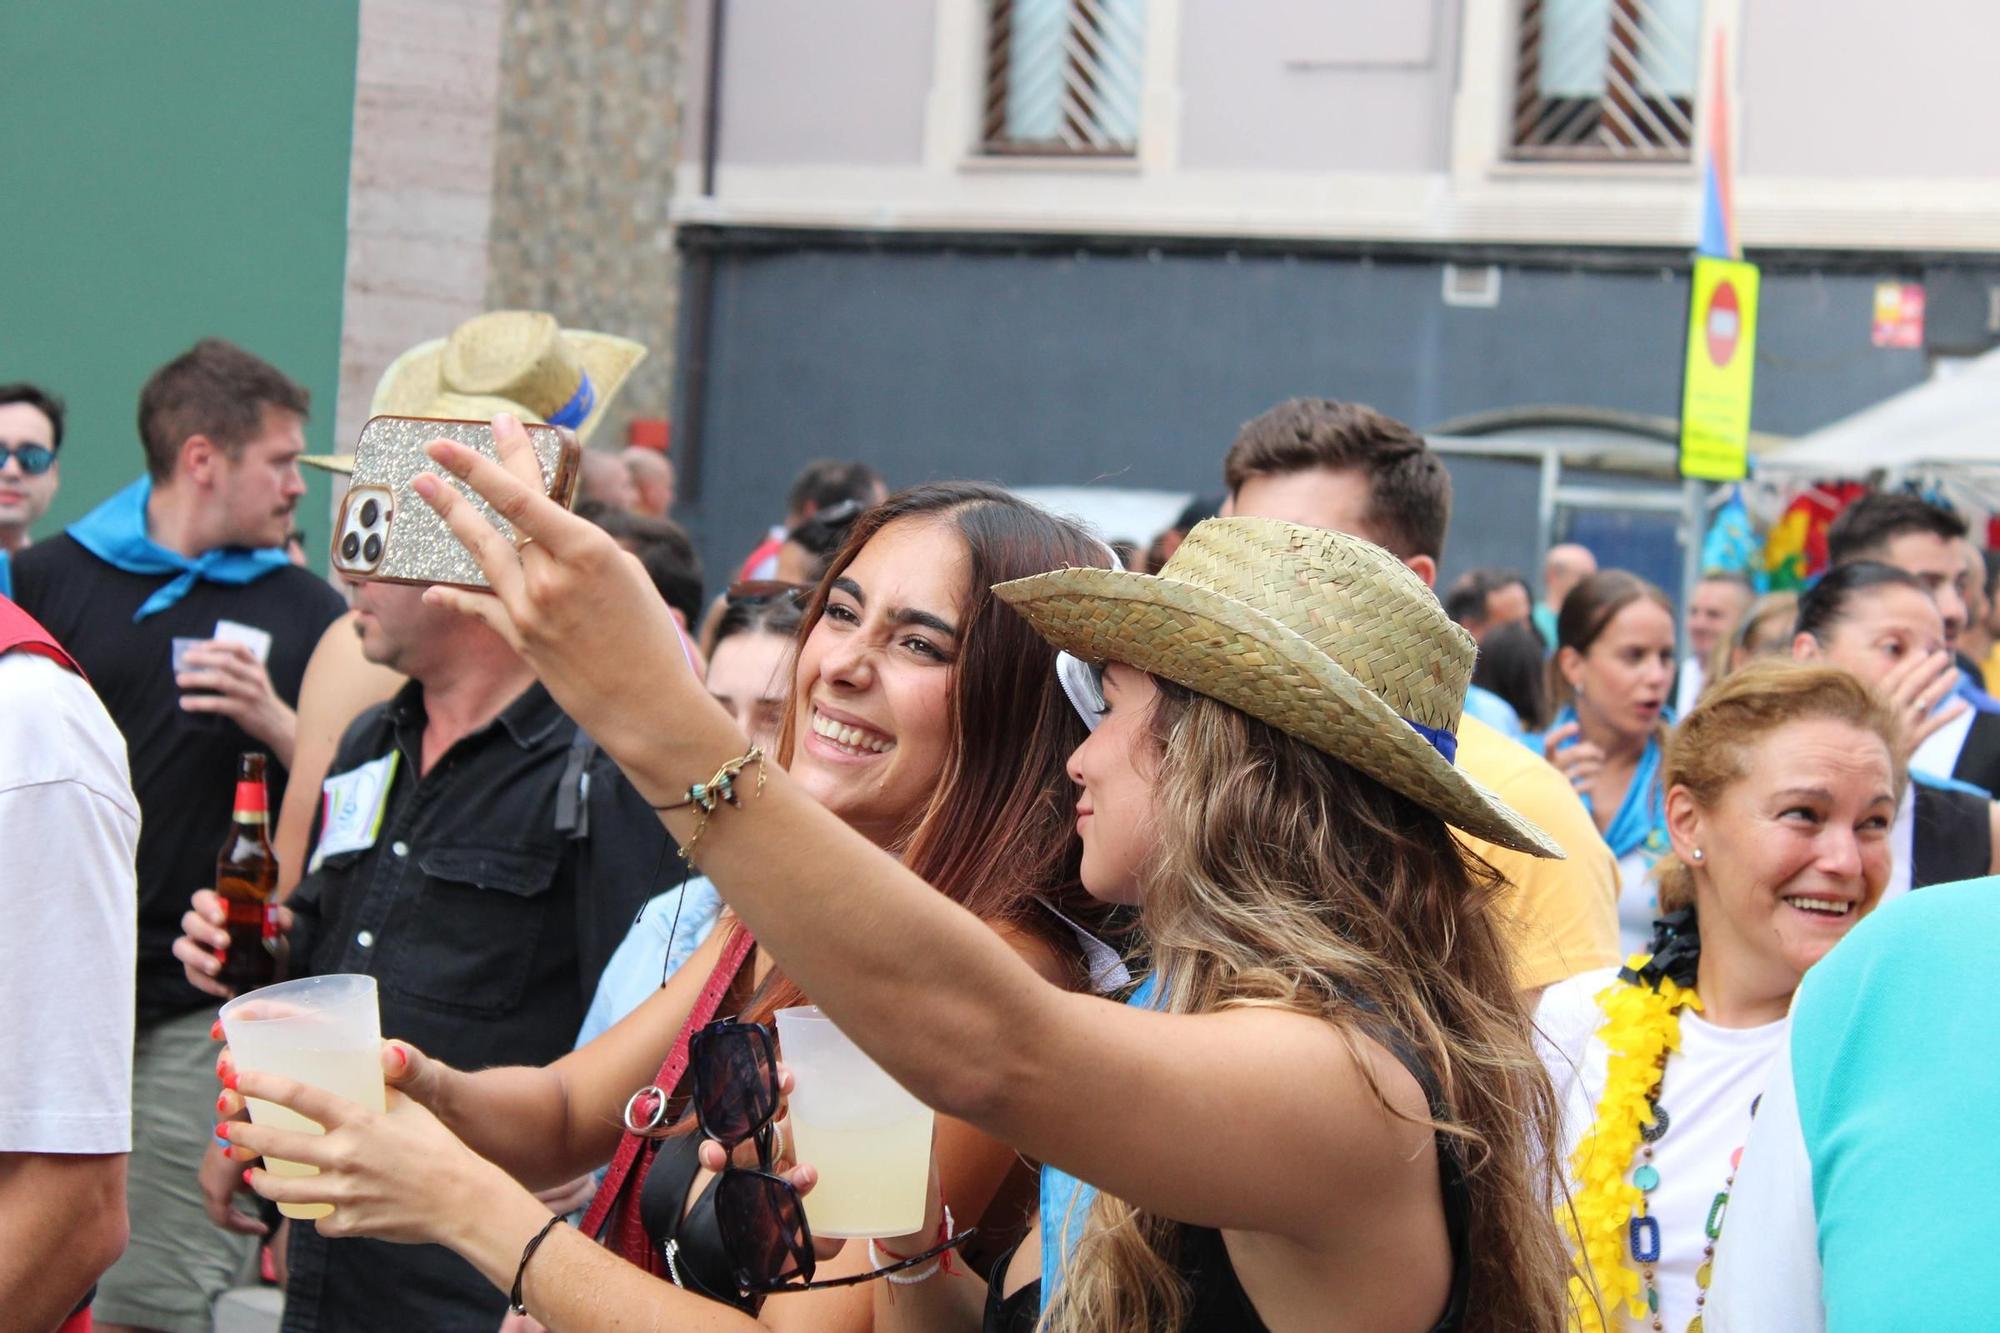
[[[524, 544], [418, 478], [492, 584], [426, 598], [506, 636], [648, 801], [670, 805], [746, 741], [682, 666], [636, 560], [530, 484], [518, 424], [494, 434], [500, 464], [446, 442], [432, 456]], [[1418, 1171], [1436, 1179], [1422, 1093], [1370, 1043], [1356, 1055], [1328, 1023], [1270, 1009], [1160, 1015], [1064, 993], [784, 773], [746, 769], [738, 795], [738, 809], [670, 813], [668, 829], [786, 973], [940, 1111], [1144, 1209], [1298, 1239]], [[1370, 1079], [1418, 1123], [1384, 1111]], [[1246, 1139], [1264, 1149], [1252, 1161], [1200, 1151]]]

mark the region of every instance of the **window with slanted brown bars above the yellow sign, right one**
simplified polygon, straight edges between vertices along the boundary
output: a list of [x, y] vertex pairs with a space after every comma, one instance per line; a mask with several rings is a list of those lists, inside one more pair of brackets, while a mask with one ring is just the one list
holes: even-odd
[[1700, 28], [1702, 0], [1522, 0], [1512, 156], [1686, 162]]

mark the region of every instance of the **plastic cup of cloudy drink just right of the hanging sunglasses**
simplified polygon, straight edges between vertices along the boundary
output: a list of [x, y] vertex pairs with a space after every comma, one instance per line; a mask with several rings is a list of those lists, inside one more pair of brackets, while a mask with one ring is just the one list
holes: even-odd
[[892, 1237], [924, 1225], [936, 1119], [818, 1009], [778, 1011], [792, 1067], [792, 1139], [818, 1169], [806, 1195], [814, 1235]]

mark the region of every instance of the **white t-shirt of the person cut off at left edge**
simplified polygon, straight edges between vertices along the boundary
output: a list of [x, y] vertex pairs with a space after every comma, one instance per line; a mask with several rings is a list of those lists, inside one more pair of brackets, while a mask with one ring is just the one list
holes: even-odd
[[0, 654], [0, 1153], [132, 1151], [138, 801], [82, 677]]

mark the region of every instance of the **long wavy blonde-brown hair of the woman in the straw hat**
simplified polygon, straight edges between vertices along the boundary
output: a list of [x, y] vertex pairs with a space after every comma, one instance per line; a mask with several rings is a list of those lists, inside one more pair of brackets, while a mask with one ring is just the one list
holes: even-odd
[[[1144, 923], [1162, 1009], [1310, 1013], [1362, 1071], [1362, 1041], [1398, 1033], [1442, 1087], [1438, 1145], [1458, 1151], [1472, 1201], [1462, 1327], [1560, 1329], [1558, 1109], [1494, 927], [1498, 877], [1414, 801], [1236, 709], [1158, 689]], [[1038, 1327], [1184, 1327], [1178, 1251], [1180, 1223], [1100, 1193]]]

